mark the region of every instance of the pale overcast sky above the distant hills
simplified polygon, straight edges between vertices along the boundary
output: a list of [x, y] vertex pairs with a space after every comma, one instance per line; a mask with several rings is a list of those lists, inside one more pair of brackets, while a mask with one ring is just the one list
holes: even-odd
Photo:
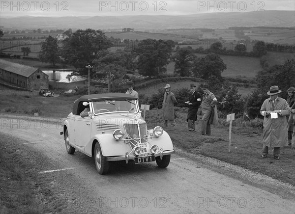
[[294, 8], [295, 0], [0, 0], [0, 17], [189, 15]]

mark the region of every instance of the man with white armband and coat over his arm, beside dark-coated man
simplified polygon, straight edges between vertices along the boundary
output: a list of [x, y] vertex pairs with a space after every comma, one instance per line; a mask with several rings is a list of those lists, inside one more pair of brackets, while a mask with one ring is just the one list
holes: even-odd
[[[210, 135], [211, 134], [211, 125], [210, 121], [212, 121], [213, 117], [217, 117], [217, 99], [215, 95], [208, 90], [208, 85], [204, 84], [201, 86], [204, 95], [201, 103], [202, 108], [202, 124], [201, 124], [201, 134]], [[216, 113], [216, 116], [215, 114]], [[217, 119], [217, 118], [216, 118]]]

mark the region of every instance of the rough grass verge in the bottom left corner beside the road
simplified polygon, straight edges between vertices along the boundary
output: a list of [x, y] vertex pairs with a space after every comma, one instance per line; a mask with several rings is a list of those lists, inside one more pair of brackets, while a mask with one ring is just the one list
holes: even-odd
[[[33, 154], [22, 143], [26, 141], [1, 133], [0, 140], [0, 213], [40, 214], [60, 212], [65, 201], [57, 195], [48, 195], [48, 201], [39, 196], [46, 193], [49, 181], [37, 172]], [[42, 185], [40, 185], [42, 184]], [[42, 186], [42, 187], [41, 187]], [[55, 197], [55, 198], [53, 198]]]

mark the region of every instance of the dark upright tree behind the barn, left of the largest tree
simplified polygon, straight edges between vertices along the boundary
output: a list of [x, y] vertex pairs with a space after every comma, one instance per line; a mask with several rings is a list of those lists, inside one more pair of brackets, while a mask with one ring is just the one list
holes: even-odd
[[42, 43], [39, 58], [42, 62], [49, 62], [53, 66], [59, 62], [59, 45], [58, 40], [48, 36]]

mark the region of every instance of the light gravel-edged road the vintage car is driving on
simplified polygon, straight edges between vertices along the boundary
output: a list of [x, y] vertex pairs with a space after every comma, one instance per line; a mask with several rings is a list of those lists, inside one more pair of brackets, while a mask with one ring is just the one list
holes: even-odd
[[59, 194], [74, 201], [74, 213], [295, 212], [293, 186], [240, 167], [225, 164], [217, 170], [223, 173], [218, 173], [209, 167], [214, 160], [204, 164], [204, 157], [177, 150], [167, 169], [156, 163], [115, 163], [102, 176], [92, 158], [80, 152], [67, 154], [59, 135], [61, 120], [1, 115], [0, 122], [1, 133], [28, 140], [24, 147], [51, 161], [42, 162], [40, 172], [52, 177]]

